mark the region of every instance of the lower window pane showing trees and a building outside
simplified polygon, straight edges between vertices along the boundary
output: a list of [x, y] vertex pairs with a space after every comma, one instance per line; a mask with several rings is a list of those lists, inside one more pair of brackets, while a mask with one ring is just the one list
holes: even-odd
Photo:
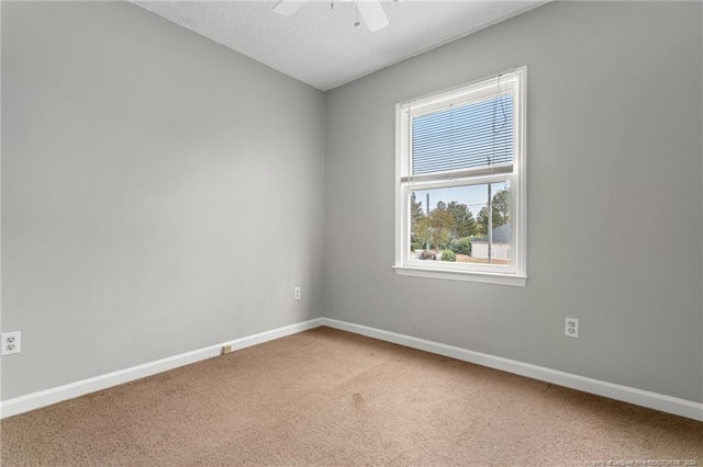
[[510, 201], [507, 181], [412, 191], [410, 259], [510, 265]]

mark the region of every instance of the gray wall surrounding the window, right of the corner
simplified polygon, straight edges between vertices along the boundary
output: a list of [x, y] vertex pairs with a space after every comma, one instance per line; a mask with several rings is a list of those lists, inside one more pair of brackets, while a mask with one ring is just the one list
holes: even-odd
[[[701, 19], [557, 2], [330, 91], [326, 316], [703, 401]], [[526, 287], [397, 276], [394, 104], [522, 65]]]

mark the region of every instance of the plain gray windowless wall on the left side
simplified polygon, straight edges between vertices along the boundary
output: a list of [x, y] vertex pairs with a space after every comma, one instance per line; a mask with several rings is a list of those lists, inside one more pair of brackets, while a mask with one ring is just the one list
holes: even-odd
[[320, 317], [323, 119], [133, 4], [2, 2], [3, 399]]

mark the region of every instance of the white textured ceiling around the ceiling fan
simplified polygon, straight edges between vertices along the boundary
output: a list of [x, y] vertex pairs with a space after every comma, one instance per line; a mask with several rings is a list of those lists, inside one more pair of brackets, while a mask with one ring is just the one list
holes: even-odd
[[290, 16], [276, 0], [133, 1], [323, 91], [546, 2], [383, 0], [390, 24], [371, 33], [354, 27], [353, 1], [311, 0]]

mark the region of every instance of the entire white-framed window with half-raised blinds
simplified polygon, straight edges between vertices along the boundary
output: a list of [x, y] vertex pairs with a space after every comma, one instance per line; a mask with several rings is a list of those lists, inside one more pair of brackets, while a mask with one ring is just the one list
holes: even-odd
[[398, 274], [525, 285], [525, 75], [397, 105]]

